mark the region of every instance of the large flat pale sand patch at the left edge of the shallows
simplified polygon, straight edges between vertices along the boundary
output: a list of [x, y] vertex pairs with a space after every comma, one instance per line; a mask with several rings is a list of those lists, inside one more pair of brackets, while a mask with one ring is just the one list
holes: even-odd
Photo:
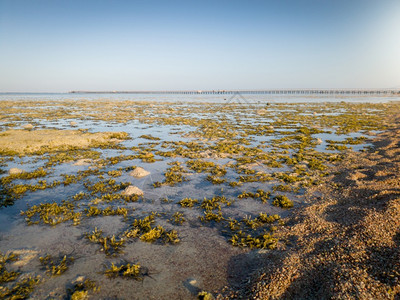
[[7, 130], [0, 133], [0, 153], [32, 154], [38, 151], [87, 149], [115, 144], [128, 137], [125, 132], [88, 133], [80, 130], [57, 129]]

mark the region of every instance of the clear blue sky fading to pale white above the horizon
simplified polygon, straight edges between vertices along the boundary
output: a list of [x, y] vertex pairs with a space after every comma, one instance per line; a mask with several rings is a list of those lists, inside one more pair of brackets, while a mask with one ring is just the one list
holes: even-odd
[[399, 88], [399, 0], [0, 0], [0, 92]]

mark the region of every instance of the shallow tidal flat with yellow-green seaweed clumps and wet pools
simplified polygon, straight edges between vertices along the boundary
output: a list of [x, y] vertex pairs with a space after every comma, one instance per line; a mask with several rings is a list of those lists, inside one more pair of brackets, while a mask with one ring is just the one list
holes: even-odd
[[253, 280], [265, 297], [260, 262], [303, 242], [293, 216], [399, 111], [0, 101], [0, 298], [246, 298]]

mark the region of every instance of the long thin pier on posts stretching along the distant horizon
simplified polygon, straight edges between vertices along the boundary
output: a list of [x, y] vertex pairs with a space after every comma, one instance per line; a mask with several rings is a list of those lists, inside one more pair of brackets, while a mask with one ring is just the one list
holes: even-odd
[[157, 95], [400, 95], [400, 89], [273, 89], [273, 90], [182, 90], [182, 91], [71, 91], [73, 94]]

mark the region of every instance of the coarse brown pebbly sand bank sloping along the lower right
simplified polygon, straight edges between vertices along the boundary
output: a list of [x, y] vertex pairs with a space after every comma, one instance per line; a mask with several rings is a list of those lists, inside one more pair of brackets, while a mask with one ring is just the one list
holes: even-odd
[[373, 143], [308, 192], [278, 249], [259, 254], [262, 267], [227, 298], [400, 299], [400, 126]]

